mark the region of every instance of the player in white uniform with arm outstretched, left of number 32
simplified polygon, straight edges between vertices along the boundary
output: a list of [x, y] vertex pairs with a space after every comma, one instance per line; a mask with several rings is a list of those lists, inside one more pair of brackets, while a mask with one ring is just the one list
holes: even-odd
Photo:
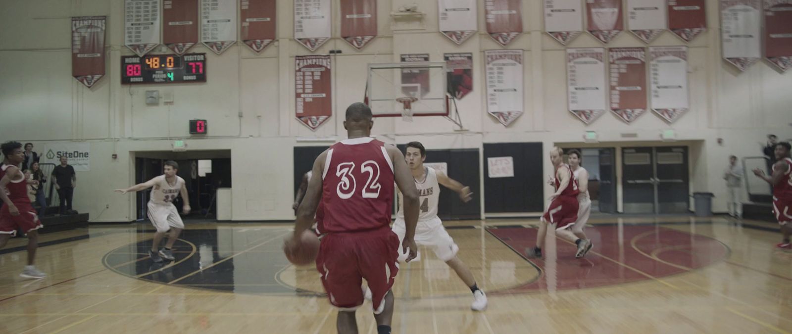
[[[187, 195], [187, 187], [185, 187], [185, 179], [176, 175], [179, 170], [179, 164], [176, 161], [165, 161], [164, 174], [154, 177], [151, 180], [143, 182], [142, 184], [135, 184], [130, 188], [116, 189], [116, 192], [126, 194], [127, 192], [139, 192], [151, 188], [151, 195], [148, 203], [148, 216], [151, 224], [157, 229], [154, 233], [154, 242], [151, 244], [149, 256], [151, 260], [159, 263], [162, 259], [169, 261], [173, 260], [173, 243], [176, 242], [177, 237], [181, 230], [185, 229], [185, 223], [181, 222], [179, 212], [176, 206], [173, 205], [173, 200], [181, 194], [181, 199], [185, 205], [182, 207], [182, 212], [185, 214], [190, 213], [190, 199]], [[170, 230], [168, 242], [165, 249], [159, 249], [159, 244], [162, 238]]]

